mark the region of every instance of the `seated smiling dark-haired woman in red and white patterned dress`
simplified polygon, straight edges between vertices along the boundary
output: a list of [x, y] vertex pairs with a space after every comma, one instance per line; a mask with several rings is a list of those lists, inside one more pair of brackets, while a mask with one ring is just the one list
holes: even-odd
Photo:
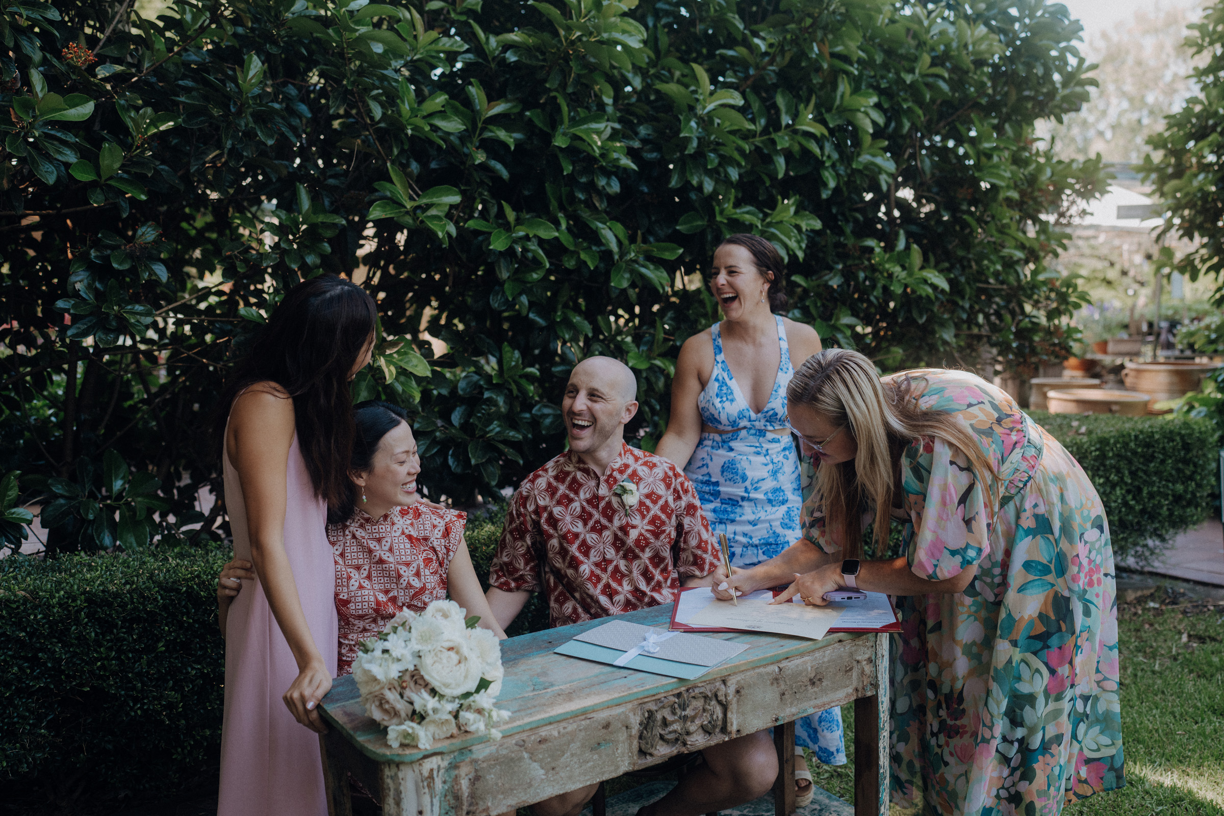
[[[450, 597], [498, 637], [497, 625], [463, 540], [466, 514], [420, 499], [421, 459], [404, 410], [370, 400], [354, 411], [356, 434], [350, 491], [328, 508], [327, 538], [335, 555], [339, 620], [338, 677], [353, 670], [357, 646], [404, 609], [421, 612]], [[222, 634], [229, 604], [251, 580], [250, 562], [228, 563], [217, 581]]]

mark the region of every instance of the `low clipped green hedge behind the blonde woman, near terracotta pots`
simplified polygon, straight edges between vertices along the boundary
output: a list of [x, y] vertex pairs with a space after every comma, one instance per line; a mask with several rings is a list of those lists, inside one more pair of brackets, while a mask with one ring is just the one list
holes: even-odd
[[1217, 432], [1190, 416], [1045, 414], [1033, 418], [1078, 460], [1105, 504], [1115, 559], [1151, 563], [1212, 506]]

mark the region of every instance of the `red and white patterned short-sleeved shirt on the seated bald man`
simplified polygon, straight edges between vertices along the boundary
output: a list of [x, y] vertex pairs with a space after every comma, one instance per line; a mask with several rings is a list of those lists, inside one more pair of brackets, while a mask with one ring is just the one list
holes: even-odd
[[[630, 481], [638, 503], [613, 488]], [[553, 626], [671, 603], [720, 565], [692, 482], [668, 460], [623, 445], [601, 480], [574, 453], [531, 473], [510, 499], [490, 584], [543, 591]]]

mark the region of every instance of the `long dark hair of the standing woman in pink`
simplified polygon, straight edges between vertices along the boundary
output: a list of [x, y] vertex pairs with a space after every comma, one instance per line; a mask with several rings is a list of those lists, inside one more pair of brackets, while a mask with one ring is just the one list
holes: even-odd
[[[377, 319], [373, 299], [351, 281], [318, 275], [297, 284], [230, 376], [219, 404], [228, 415], [242, 389], [258, 382], [285, 389], [294, 400], [297, 445], [315, 494], [328, 504], [346, 495], [353, 450], [349, 374]], [[223, 422], [219, 416], [222, 428]]]

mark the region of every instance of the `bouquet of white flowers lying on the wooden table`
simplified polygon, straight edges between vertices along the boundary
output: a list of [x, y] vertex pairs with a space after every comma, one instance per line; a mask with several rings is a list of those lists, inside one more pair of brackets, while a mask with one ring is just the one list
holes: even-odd
[[464, 618], [454, 601], [425, 612], [400, 612], [378, 637], [361, 644], [353, 677], [361, 705], [387, 728], [392, 747], [428, 749], [457, 732], [501, 739], [508, 711], [494, 707], [502, 690], [502, 647], [480, 618]]

